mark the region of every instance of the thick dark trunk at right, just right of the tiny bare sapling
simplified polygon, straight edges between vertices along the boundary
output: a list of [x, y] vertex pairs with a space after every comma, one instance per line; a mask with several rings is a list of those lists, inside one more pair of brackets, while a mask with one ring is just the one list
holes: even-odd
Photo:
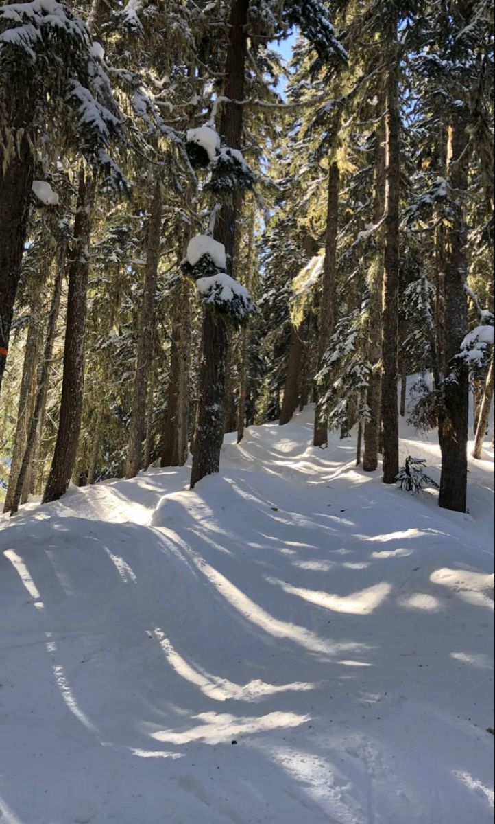
[[[445, 359], [451, 375], [444, 381], [445, 414], [439, 422], [442, 476], [438, 503], [444, 509], [465, 512], [467, 503], [467, 445], [469, 433], [469, 373], [454, 361], [467, 331], [465, 278], [466, 227], [462, 199], [468, 185], [469, 137], [458, 116], [451, 124], [448, 157], [451, 188], [458, 202], [448, 232], [445, 268]], [[451, 377], [454, 377], [454, 380]]]

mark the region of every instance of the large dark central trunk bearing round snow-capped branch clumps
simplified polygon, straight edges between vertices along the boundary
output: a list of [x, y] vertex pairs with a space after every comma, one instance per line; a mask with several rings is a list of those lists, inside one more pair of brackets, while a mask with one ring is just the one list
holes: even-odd
[[[232, 0], [229, 40], [225, 59], [224, 103], [220, 133], [231, 148], [240, 149], [243, 133], [243, 105], [247, 59], [248, 0]], [[231, 194], [224, 199], [215, 223], [215, 240], [223, 243], [232, 267], [236, 224], [241, 199]], [[229, 329], [224, 317], [207, 310], [201, 337], [201, 372], [197, 427], [192, 460], [191, 489], [206, 475], [220, 471], [220, 450], [224, 440], [223, 406]]]

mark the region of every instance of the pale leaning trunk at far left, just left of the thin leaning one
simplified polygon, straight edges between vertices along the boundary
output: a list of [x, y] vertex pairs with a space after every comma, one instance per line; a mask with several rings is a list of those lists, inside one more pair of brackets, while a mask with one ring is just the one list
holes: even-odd
[[35, 281], [32, 285], [33, 293], [30, 302], [30, 322], [25, 341], [24, 364], [22, 367], [21, 391], [17, 411], [16, 434], [12, 450], [11, 471], [7, 487], [7, 495], [3, 505], [3, 512], [12, 509], [12, 501], [16, 490], [17, 478], [21, 471], [22, 458], [25, 452], [25, 443], [30, 429], [30, 420], [33, 414], [33, 397], [35, 394], [35, 377], [39, 349], [41, 344], [41, 304], [43, 280]]

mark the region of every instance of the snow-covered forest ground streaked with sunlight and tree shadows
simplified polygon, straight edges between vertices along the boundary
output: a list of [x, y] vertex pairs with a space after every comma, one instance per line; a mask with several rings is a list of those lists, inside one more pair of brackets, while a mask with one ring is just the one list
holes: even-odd
[[493, 452], [464, 516], [311, 438], [0, 521], [2, 824], [492, 822]]

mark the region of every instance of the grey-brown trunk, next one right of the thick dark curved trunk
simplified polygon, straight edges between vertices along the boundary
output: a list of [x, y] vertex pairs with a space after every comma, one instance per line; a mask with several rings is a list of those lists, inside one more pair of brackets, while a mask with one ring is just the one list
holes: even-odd
[[153, 353], [153, 325], [155, 322], [155, 290], [158, 263], [160, 260], [162, 218], [162, 195], [160, 180], [156, 180], [150, 209], [150, 222], [146, 244], [146, 269], [141, 311], [139, 315], [139, 335], [137, 341], [136, 376], [132, 395], [131, 431], [127, 451], [126, 478], [134, 478], [140, 471], [143, 460], [143, 441], [146, 434], [146, 389]]

